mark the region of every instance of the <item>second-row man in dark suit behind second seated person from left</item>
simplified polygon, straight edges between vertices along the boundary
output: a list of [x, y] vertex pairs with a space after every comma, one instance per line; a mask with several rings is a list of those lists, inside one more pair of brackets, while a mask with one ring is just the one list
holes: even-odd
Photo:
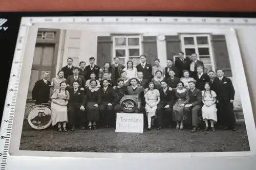
[[68, 77], [67, 86], [73, 87], [75, 81], [79, 83], [80, 90], [84, 90], [83, 87], [86, 85], [86, 80], [83, 76], [79, 75], [79, 69], [77, 67], [73, 69], [73, 75]]

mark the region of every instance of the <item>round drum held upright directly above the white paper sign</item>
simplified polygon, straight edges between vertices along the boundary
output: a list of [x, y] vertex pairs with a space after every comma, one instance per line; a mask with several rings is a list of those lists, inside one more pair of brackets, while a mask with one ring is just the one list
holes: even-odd
[[136, 112], [138, 108], [138, 98], [134, 95], [124, 95], [120, 100], [121, 109], [125, 113]]

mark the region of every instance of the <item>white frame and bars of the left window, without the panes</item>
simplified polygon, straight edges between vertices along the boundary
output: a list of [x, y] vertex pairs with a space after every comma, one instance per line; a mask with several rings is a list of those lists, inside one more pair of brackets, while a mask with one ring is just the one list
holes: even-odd
[[[116, 57], [116, 50], [125, 50], [125, 57], [119, 57], [124, 58], [124, 65], [126, 66], [127, 61], [130, 60], [129, 56], [129, 49], [139, 49], [139, 56], [133, 56], [133, 58], [139, 58], [142, 54], [142, 36], [141, 35], [120, 35], [120, 36], [112, 36], [113, 38], [113, 58]], [[116, 38], [125, 38], [126, 39], [126, 45], [123, 46], [116, 46]], [[128, 38], [139, 38], [139, 45], [128, 45]], [[136, 66], [136, 64], [134, 64]]]

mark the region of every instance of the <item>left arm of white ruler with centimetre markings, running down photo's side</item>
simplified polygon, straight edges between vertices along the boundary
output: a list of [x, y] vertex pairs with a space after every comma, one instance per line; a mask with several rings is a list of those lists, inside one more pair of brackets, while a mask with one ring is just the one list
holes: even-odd
[[18, 39], [16, 42], [14, 58], [12, 62], [11, 74], [9, 78], [8, 91], [6, 95], [5, 107], [0, 129], [0, 170], [5, 170], [7, 158], [9, 156], [9, 144], [11, 138], [11, 129], [14, 117], [14, 110], [18, 92], [20, 72], [22, 70], [23, 56], [25, 52], [26, 37], [28, 34], [28, 25], [21, 25]]

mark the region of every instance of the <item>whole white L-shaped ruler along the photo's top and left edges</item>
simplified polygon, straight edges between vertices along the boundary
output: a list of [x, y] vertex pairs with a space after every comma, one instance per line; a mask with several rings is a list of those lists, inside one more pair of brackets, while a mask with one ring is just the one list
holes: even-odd
[[[248, 27], [256, 26], [254, 18], [216, 18], [216, 17], [25, 17], [22, 19], [15, 54], [13, 58], [5, 108], [0, 130], [0, 170], [5, 170], [9, 156], [9, 144], [13, 124], [14, 110], [19, 86], [20, 72], [22, 70], [27, 35], [34, 23], [73, 23], [87, 24], [169, 24], [169, 25], [205, 25]], [[256, 30], [255, 30], [256, 31]], [[25, 107], [25, 106], [24, 106]]]

